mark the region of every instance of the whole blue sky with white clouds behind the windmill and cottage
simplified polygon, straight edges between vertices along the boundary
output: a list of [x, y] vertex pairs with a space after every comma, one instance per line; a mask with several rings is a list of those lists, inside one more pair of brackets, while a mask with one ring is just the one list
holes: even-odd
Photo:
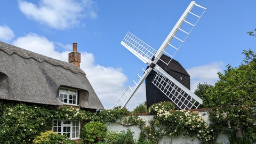
[[[191, 1], [9, 1], [0, 4], [0, 41], [68, 61], [72, 43], [105, 108], [112, 108], [146, 64], [120, 42], [130, 31], [158, 49]], [[243, 50], [256, 52], [256, 1], [196, 1], [207, 8], [174, 59], [188, 71], [191, 91], [214, 85], [218, 71], [241, 64]], [[0, 58], [1, 59], [1, 58]], [[131, 99], [132, 110], [146, 101], [145, 85]]]

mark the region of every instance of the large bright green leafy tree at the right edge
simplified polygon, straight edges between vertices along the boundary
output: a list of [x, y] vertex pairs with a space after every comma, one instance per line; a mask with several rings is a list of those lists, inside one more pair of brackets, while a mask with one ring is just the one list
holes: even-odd
[[256, 54], [249, 49], [239, 67], [227, 65], [225, 74], [218, 72], [219, 81], [206, 91], [212, 111], [226, 114], [233, 126], [249, 132], [256, 140]]

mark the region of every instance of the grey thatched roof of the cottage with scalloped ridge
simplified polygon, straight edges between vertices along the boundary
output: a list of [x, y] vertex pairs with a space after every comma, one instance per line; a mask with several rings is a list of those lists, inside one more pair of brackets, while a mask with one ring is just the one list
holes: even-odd
[[78, 89], [83, 108], [103, 109], [82, 69], [0, 42], [0, 99], [62, 106], [59, 87]]

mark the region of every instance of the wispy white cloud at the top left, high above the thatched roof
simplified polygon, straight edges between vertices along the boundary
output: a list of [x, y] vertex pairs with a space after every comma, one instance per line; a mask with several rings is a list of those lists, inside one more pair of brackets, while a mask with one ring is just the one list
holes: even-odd
[[18, 2], [20, 11], [27, 18], [55, 29], [77, 26], [83, 17], [97, 17], [91, 0], [41, 0], [38, 5], [23, 0]]

